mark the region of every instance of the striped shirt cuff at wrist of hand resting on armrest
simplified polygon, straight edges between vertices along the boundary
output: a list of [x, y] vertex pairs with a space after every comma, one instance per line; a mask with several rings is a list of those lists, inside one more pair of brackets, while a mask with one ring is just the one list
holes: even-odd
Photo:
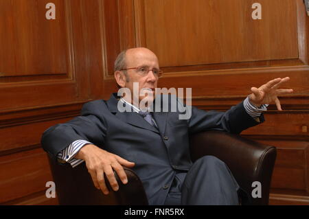
[[80, 163], [84, 162], [82, 159], [76, 159], [74, 156], [80, 151], [80, 149], [91, 142], [85, 140], [73, 141], [67, 148], [63, 149], [57, 154], [57, 158], [60, 163], [70, 163], [73, 168], [75, 168]]

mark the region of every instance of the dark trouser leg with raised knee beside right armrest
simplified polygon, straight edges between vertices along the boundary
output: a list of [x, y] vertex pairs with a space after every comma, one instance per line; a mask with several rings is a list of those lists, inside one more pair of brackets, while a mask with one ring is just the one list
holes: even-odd
[[238, 205], [239, 185], [227, 165], [213, 156], [198, 159], [181, 187], [182, 205]]

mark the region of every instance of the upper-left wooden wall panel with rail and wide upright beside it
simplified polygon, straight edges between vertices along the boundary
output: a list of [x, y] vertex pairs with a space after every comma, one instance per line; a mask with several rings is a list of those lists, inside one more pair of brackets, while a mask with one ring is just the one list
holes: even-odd
[[102, 95], [99, 1], [54, 1], [56, 20], [48, 2], [1, 1], [0, 111]]

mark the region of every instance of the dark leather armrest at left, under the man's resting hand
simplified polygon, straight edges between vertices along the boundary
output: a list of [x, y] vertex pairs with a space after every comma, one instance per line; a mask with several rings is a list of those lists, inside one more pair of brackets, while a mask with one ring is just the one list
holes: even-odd
[[[72, 168], [69, 163], [60, 164], [49, 157], [49, 164], [60, 205], [148, 205], [144, 187], [133, 170], [124, 168], [128, 177], [126, 185], [115, 174], [119, 190], [114, 192], [106, 183], [110, 192], [104, 195], [93, 185], [85, 163]], [[106, 176], [105, 181], [108, 182]]]

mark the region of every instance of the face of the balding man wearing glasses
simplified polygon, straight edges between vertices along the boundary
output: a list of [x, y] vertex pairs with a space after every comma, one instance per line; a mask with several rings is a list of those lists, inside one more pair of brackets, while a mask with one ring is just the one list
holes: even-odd
[[[152, 71], [149, 71], [146, 76], [143, 76], [137, 69], [129, 69], [134, 67], [149, 67], [150, 69], [159, 69], [157, 56], [146, 48], [128, 49], [126, 51], [126, 68], [127, 80], [125, 86], [133, 93], [133, 83], [138, 82], [138, 100], [141, 102], [152, 102], [155, 99], [155, 88], [157, 88], [158, 78]], [[143, 92], [146, 91], [146, 92]], [[152, 93], [152, 95], [147, 95]], [[136, 97], [137, 98], [137, 97]]]

